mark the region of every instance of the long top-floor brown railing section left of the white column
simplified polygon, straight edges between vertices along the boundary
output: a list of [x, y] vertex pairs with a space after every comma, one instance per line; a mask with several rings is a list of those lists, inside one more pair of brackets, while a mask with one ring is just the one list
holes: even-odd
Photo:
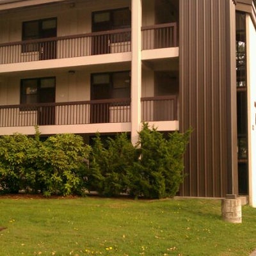
[[131, 51], [131, 28], [0, 44], [0, 64]]

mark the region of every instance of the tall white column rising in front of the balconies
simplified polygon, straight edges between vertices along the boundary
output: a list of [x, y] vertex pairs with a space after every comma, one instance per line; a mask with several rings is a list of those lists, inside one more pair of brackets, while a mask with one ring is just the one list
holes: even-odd
[[136, 144], [141, 127], [141, 1], [132, 0], [131, 141]]

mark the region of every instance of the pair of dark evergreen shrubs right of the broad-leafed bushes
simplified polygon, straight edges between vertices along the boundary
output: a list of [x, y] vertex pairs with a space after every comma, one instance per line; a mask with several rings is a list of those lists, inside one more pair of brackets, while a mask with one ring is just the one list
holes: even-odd
[[122, 192], [145, 198], [174, 196], [184, 179], [182, 157], [190, 133], [172, 132], [164, 138], [144, 124], [135, 147], [125, 133], [108, 138], [106, 145], [97, 134], [86, 187], [106, 196]]

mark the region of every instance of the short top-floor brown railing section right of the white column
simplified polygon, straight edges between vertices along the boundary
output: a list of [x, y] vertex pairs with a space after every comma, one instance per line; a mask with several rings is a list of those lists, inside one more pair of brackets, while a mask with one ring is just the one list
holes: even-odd
[[141, 28], [142, 50], [177, 47], [177, 22]]

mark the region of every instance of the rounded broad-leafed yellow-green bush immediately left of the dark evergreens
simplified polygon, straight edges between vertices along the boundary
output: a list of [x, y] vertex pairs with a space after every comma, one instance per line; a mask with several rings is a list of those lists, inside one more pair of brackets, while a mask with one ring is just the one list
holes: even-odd
[[90, 147], [84, 145], [81, 136], [58, 134], [47, 138], [40, 148], [45, 195], [83, 193], [89, 152]]

